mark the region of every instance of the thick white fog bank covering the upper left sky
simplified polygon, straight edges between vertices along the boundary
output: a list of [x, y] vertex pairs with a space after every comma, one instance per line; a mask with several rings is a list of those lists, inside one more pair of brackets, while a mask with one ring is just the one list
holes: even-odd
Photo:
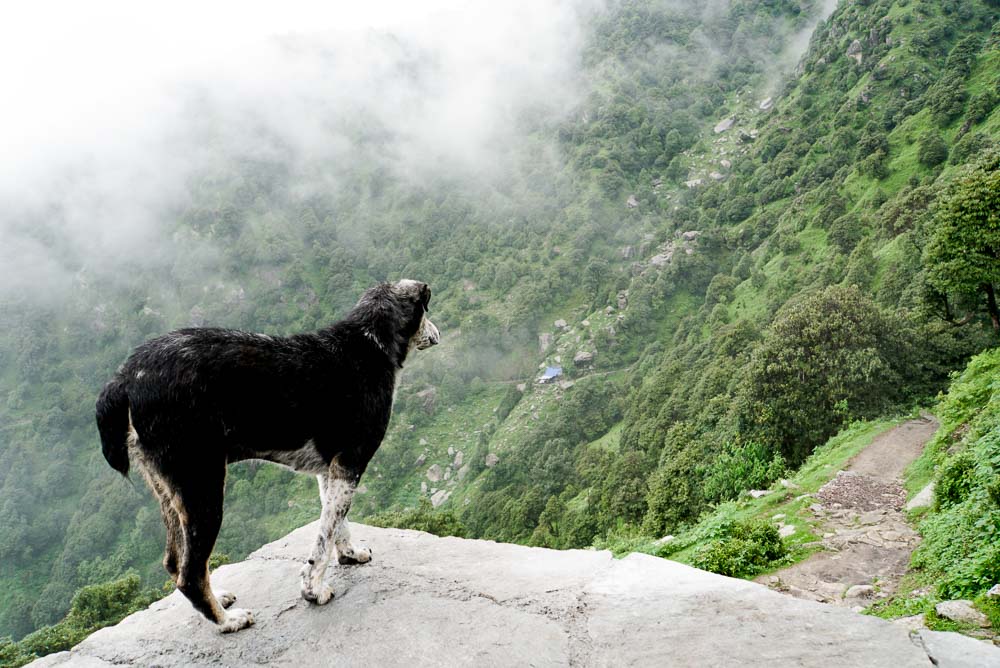
[[308, 172], [306, 196], [336, 187], [360, 127], [380, 133], [378, 159], [405, 178], [488, 177], [504, 168], [520, 118], [556, 119], [582, 94], [583, 26], [600, 10], [594, 0], [343, 4], [8, 10], [0, 295], [58, 296], [81, 271], [170, 263], [169, 222], [192, 176], [233, 156]]

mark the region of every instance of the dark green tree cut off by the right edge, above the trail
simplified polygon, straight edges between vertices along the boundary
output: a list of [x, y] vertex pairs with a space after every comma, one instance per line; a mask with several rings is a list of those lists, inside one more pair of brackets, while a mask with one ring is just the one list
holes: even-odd
[[[992, 153], [955, 181], [938, 207], [933, 229], [924, 253], [928, 283], [945, 296], [985, 297], [993, 329], [1000, 334], [996, 297], [1000, 283], [1000, 153]], [[952, 315], [948, 313], [948, 317]]]

